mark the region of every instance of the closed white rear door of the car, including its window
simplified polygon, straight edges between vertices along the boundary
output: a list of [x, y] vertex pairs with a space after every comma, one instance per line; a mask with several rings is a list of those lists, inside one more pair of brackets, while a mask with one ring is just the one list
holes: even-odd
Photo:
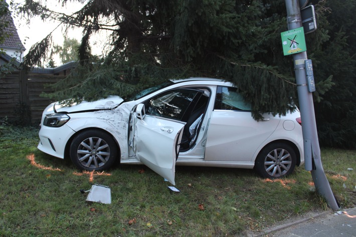
[[256, 121], [251, 106], [236, 88], [218, 86], [211, 117], [205, 160], [250, 162], [256, 149], [277, 128], [280, 118], [263, 114]]

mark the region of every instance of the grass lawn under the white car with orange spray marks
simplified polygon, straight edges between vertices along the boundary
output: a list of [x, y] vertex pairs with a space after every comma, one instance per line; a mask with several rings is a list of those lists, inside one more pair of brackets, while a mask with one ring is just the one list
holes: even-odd
[[[172, 192], [143, 165], [82, 172], [37, 150], [37, 129], [0, 125], [0, 236], [238, 236], [308, 211], [328, 209], [310, 172], [262, 179], [253, 170], [176, 167]], [[356, 205], [356, 151], [322, 148], [342, 207]], [[97, 183], [111, 204], [87, 202]]]

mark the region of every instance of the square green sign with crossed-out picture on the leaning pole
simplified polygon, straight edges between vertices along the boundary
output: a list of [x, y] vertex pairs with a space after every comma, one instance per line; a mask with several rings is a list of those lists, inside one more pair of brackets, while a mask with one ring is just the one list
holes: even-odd
[[306, 51], [303, 27], [282, 32], [281, 38], [284, 56]]

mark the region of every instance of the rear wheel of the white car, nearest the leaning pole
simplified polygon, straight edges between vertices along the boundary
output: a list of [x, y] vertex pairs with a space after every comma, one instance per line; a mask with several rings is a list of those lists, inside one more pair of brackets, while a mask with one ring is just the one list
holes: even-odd
[[297, 156], [294, 149], [285, 143], [265, 146], [255, 161], [255, 170], [264, 178], [283, 178], [292, 173]]

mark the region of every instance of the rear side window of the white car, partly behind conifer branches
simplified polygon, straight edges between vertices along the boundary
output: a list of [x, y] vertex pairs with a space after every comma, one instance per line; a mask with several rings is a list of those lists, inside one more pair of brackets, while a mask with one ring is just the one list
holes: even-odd
[[251, 111], [251, 104], [234, 87], [218, 86], [214, 109]]

